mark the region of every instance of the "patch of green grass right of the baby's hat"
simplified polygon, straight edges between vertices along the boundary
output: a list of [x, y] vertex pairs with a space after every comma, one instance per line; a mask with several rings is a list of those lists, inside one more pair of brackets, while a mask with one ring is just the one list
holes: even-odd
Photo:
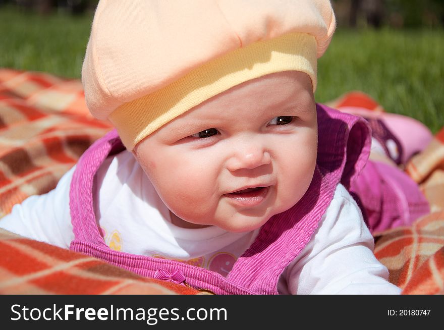
[[444, 126], [444, 30], [338, 30], [318, 62], [316, 100], [361, 90], [387, 112]]

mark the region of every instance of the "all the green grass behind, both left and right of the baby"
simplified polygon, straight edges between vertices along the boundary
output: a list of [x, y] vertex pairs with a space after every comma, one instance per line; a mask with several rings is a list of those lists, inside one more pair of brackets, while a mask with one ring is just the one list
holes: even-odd
[[[79, 78], [92, 14], [0, 7], [0, 67]], [[360, 90], [388, 112], [444, 126], [444, 30], [338, 30], [318, 64], [316, 100]]]

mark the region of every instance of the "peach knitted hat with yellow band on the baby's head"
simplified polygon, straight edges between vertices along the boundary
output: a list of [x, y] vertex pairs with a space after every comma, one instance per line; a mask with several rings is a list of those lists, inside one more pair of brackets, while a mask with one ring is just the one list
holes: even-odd
[[132, 150], [254, 78], [302, 71], [315, 90], [335, 27], [328, 0], [100, 0], [82, 68], [86, 103]]

